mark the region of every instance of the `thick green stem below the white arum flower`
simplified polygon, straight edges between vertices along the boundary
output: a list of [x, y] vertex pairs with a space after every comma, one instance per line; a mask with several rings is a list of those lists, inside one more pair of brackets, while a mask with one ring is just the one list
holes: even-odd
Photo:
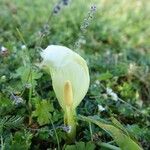
[[67, 107], [64, 115], [64, 124], [69, 127], [69, 131], [67, 133], [68, 143], [72, 143], [75, 141], [76, 137], [76, 111], [71, 107]]

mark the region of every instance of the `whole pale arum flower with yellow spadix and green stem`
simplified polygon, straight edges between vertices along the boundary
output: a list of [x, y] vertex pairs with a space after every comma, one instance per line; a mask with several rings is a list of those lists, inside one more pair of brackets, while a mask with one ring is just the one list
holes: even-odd
[[64, 110], [64, 123], [71, 128], [71, 140], [76, 133], [76, 107], [89, 88], [89, 70], [86, 61], [71, 49], [50, 45], [41, 52], [41, 66], [51, 75], [52, 85]]

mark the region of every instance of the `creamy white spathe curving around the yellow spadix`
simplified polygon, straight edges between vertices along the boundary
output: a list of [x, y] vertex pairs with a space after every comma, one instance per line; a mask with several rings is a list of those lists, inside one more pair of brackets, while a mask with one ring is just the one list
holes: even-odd
[[65, 46], [50, 45], [41, 52], [42, 66], [51, 74], [56, 97], [65, 110], [64, 86], [70, 81], [73, 108], [82, 101], [89, 88], [89, 70], [86, 61]]

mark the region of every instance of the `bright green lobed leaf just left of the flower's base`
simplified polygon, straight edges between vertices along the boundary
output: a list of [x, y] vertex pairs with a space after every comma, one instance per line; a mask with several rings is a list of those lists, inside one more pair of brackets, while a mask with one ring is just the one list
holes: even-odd
[[35, 108], [35, 111], [32, 112], [32, 117], [37, 117], [39, 125], [50, 123], [52, 117], [50, 112], [54, 110], [53, 105], [47, 100], [42, 100], [35, 104]]

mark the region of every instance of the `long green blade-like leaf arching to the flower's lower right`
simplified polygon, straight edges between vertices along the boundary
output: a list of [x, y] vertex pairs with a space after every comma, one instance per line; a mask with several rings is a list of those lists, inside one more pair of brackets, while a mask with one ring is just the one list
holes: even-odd
[[98, 125], [100, 128], [102, 128], [106, 132], [108, 132], [122, 150], [142, 150], [142, 148], [136, 142], [134, 142], [130, 138], [130, 136], [124, 134], [124, 132], [120, 130], [119, 128], [111, 124], [106, 124], [106, 123], [97, 121], [91, 117], [84, 117], [84, 116], [80, 116], [80, 117], [82, 120], [85, 120], [88, 122], [90, 121]]

